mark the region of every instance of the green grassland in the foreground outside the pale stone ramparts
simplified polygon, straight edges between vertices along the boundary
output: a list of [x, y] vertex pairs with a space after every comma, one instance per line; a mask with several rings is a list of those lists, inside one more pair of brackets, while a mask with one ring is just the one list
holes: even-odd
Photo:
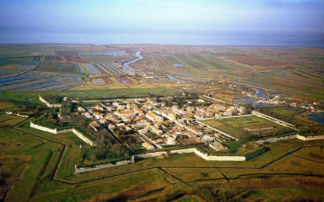
[[[4, 129], [0, 134], [2, 145], [0, 161], [6, 165], [2, 166], [5, 171], [11, 173], [1, 189], [7, 192], [11, 187], [6, 195], [6, 200], [9, 201], [43, 201], [47, 198], [51, 198], [52, 201], [101, 199], [114, 201], [119, 197], [156, 200], [165, 198], [168, 193], [175, 191], [185, 193], [190, 188], [189, 185], [218, 186], [222, 189], [237, 188], [242, 190], [241, 195], [252, 193], [248, 194], [248, 200], [260, 197], [265, 188], [275, 192], [294, 185], [293, 190], [304, 188], [311, 193], [303, 192], [304, 194], [285, 197], [302, 199], [305, 195], [314, 198], [315, 193], [319, 193], [314, 186], [324, 183], [321, 178], [316, 177], [322, 174], [317, 162], [324, 161], [323, 153], [318, 146], [303, 148], [263, 168], [263, 165], [268, 162], [305, 144], [304, 141], [297, 139], [268, 144], [270, 150], [267, 153], [245, 162], [210, 162], [194, 154], [184, 154], [172, 155], [167, 159], [150, 158], [131, 165], [72, 175], [74, 164], [79, 158], [78, 144], [83, 142], [72, 133], [53, 135], [29, 128], [28, 125], [28, 122], [25, 122], [17, 129]], [[63, 149], [63, 144], [66, 147], [52, 180], [49, 176]], [[321, 145], [324, 141], [308, 141], [307, 144]], [[2, 172], [4, 171], [0, 170], [0, 173]], [[292, 172], [295, 173], [294, 176], [289, 174]], [[308, 176], [309, 173], [312, 174]], [[264, 178], [264, 176], [268, 177]], [[231, 179], [230, 183], [225, 180], [226, 178]], [[303, 178], [312, 185], [306, 184]], [[79, 183], [91, 179], [98, 180]], [[120, 183], [121, 181], [124, 183]], [[274, 184], [274, 181], [278, 183]], [[280, 184], [280, 181], [285, 181], [285, 185]], [[260, 182], [263, 183], [262, 186], [259, 185]], [[274, 194], [267, 199], [276, 197], [278, 196]], [[315, 198], [322, 199], [323, 196], [316, 195]], [[184, 195], [177, 200], [200, 201], [201, 198], [195, 195]]]

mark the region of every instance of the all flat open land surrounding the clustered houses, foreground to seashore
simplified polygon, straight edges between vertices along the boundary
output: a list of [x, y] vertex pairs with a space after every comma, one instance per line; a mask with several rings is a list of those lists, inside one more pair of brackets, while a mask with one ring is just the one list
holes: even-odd
[[[143, 59], [126, 68], [125, 63], [138, 58], [137, 52]], [[3, 44], [0, 201], [212, 201], [212, 192], [218, 197], [230, 195], [223, 201], [323, 201], [324, 140], [268, 143], [266, 153], [242, 162], [173, 154], [74, 174], [75, 165], [90, 165], [83, 162], [84, 149], [90, 146], [73, 133], [54, 135], [29, 127], [31, 120], [54, 126], [51, 116], [5, 114], [28, 113], [28, 107], [52, 113], [42, 108], [39, 95], [91, 100], [197, 93], [234, 104], [257, 103], [257, 98], [247, 95], [256, 88], [266, 96], [280, 94], [286, 103], [319, 102], [316, 107], [322, 109], [323, 62], [324, 49], [316, 47]], [[261, 110], [306, 131], [315, 127], [316, 134], [322, 131], [320, 112], [283, 105], [271, 103]], [[291, 131], [257, 116], [204, 122], [238, 138]], [[275, 128], [244, 130], [264, 125]], [[238, 141], [226, 144], [230, 149], [217, 155], [246, 155], [262, 147], [254, 147], [251, 141], [245, 143], [246, 149]], [[211, 154], [210, 149], [203, 150]]]

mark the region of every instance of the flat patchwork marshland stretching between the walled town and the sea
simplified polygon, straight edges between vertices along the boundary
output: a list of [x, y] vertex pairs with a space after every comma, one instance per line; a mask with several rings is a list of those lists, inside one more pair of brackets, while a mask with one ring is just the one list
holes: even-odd
[[[130, 65], [136, 71], [132, 72], [123, 64], [137, 58], [137, 51], [143, 59]], [[212, 92], [231, 100], [242, 89], [224, 91], [224, 84], [220, 89], [210, 85], [210, 81], [235, 82], [274, 90], [286, 95], [288, 101], [324, 101], [323, 58], [323, 49], [316, 47], [4, 45], [0, 49], [0, 75], [12, 76], [0, 78], [0, 90], [80, 90], [83, 86], [90, 89], [89, 84], [94, 89], [111, 89], [111, 81], [95, 79], [114, 75], [125, 85], [123, 88], [136, 88], [140, 83]], [[36, 76], [41, 73], [43, 77]], [[119, 78], [130, 73], [135, 74], [131, 77], [137, 82]], [[18, 77], [24, 80], [17, 80]], [[26, 82], [34, 78], [38, 82]], [[56, 83], [46, 84], [53, 81]], [[42, 82], [45, 84], [37, 86]], [[29, 88], [31, 85], [34, 87]]]

